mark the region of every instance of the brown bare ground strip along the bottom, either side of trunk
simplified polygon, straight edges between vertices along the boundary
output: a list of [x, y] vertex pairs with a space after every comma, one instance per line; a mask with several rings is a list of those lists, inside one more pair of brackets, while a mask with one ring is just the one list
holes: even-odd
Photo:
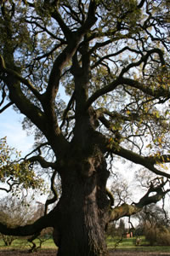
[[[110, 250], [109, 256], [130, 256], [130, 255], [136, 255], [137, 252], [122, 252], [121, 250], [119, 251], [113, 251]], [[37, 253], [28, 253], [28, 250], [0, 250], [0, 256], [56, 256], [56, 250], [41, 250], [38, 251]], [[148, 252], [139, 252], [138, 251], [138, 256], [170, 256], [170, 253], [148, 253]]]

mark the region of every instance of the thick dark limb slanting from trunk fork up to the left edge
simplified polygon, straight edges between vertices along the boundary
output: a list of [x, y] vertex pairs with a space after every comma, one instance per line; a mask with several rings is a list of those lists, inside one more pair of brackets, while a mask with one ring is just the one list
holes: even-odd
[[[9, 98], [11, 102], [13, 102], [17, 108], [20, 109], [21, 113], [24, 113], [29, 119], [31, 119], [33, 124], [37, 125], [37, 128], [43, 132], [48, 141], [51, 143], [54, 152], [57, 154], [62, 154], [62, 152], [65, 151], [67, 143], [60, 132], [55, 114], [52, 119], [53, 125], [51, 125], [49, 122], [48, 113], [42, 112], [42, 109], [35, 106], [26, 97], [26, 95], [21, 90], [20, 83], [26, 84], [41, 103], [43, 102], [43, 96], [37, 92], [37, 90], [27, 79], [23, 79], [15, 71], [6, 68], [2, 56], [0, 58], [0, 71], [2, 73], [7, 73], [7, 76], [4, 76], [3, 81], [8, 86]], [[50, 109], [49, 104], [48, 109]]]

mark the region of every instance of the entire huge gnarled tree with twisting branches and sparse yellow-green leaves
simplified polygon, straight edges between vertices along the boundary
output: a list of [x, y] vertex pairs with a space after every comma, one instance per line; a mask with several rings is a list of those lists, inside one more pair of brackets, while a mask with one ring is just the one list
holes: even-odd
[[[52, 201], [57, 173], [62, 188], [54, 210], [16, 229], [0, 224], [3, 234], [50, 226], [59, 256], [105, 255], [109, 221], [167, 194], [169, 9], [167, 0], [1, 1], [0, 111], [13, 105], [35, 134], [20, 165], [47, 169]], [[138, 202], [113, 207], [105, 185], [115, 156], [160, 182]]]

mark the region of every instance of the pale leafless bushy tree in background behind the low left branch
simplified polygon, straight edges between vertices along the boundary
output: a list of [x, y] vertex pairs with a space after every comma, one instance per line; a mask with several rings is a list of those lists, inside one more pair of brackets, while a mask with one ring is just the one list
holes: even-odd
[[[21, 194], [21, 193], [20, 193]], [[19, 225], [26, 225], [34, 223], [37, 218], [41, 218], [44, 215], [45, 205], [37, 201], [33, 201], [30, 195], [30, 200], [24, 194], [12, 195], [11, 193], [3, 197], [0, 201], [0, 222], [8, 224], [8, 227], [14, 228]], [[26, 237], [23, 240], [23, 245], [26, 243], [31, 247], [30, 252], [37, 251], [42, 247], [42, 243], [52, 237], [53, 230], [47, 228], [42, 230], [36, 236]], [[12, 245], [13, 241], [17, 239], [17, 236], [6, 236], [1, 234], [5, 246]], [[34, 241], [37, 239], [37, 241]]]

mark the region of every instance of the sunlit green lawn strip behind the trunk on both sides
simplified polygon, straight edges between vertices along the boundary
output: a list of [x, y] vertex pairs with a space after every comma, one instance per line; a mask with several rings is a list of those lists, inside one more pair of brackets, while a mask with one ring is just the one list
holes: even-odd
[[[150, 247], [148, 241], [145, 240], [144, 236], [141, 237], [142, 242], [141, 246], [135, 246], [135, 237], [134, 238], [123, 238], [122, 242], [118, 244], [115, 248], [116, 242], [120, 239], [113, 238], [111, 236], [107, 237], [107, 245], [109, 249], [123, 250], [123, 251], [140, 251], [140, 252], [160, 252], [160, 253], [170, 253], [169, 246], [154, 246]], [[38, 240], [35, 240], [38, 245]], [[0, 249], [1, 250], [12, 250], [12, 249], [29, 249], [29, 243], [26, 239], [16, 239], [13, 241], [12, 246], [4, 246], [3, 240], [0, 239]], [[53, 239], [48, 239], [42, 243], [42, 249], [56, 249]]]

